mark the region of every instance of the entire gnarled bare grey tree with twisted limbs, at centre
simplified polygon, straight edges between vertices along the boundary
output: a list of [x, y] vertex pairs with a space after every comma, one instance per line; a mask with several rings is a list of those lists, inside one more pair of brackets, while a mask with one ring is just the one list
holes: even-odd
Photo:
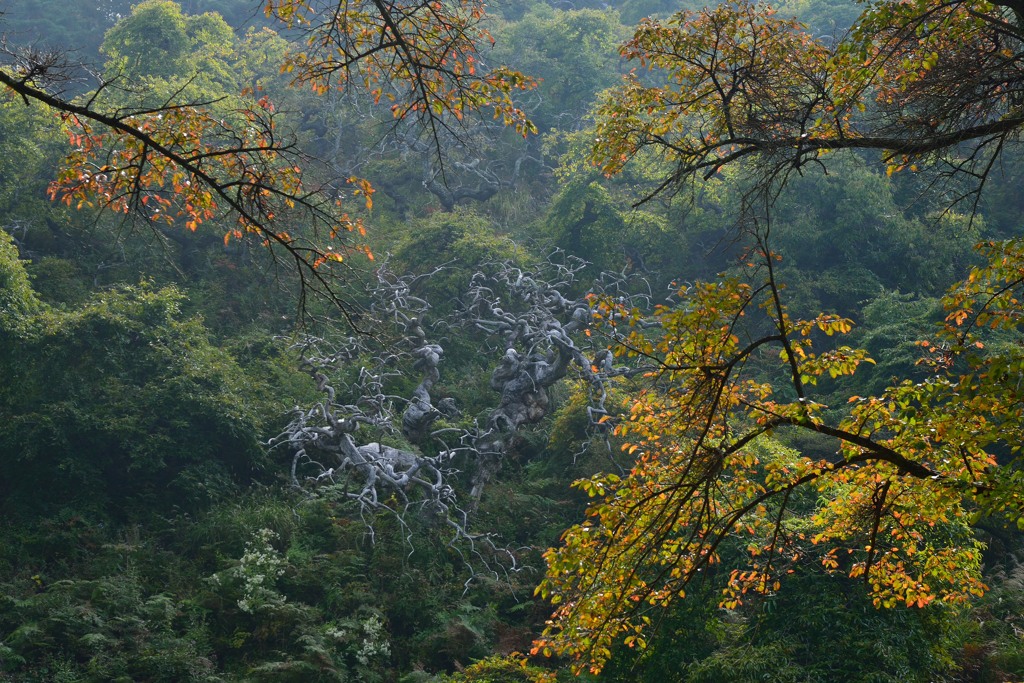
[[[458, 444], [434, 456], [385, 444], [376, 435], [397, 437], [400, 429], [412, 443], [436, 443], [441, 432], [432, 431], [434, 422], [456, 413], [450, 402], [435, 405], [431, 396], [440, 381], [443, 348], [431, 341], [425, 324], [429, 304], [412, 293], [419, 278], [399, 278], [385, 263], [377, 271], [369, 313], [392, 331], [394, 341], [386, 353], [372, 353], [374, 340], [362, 337], [343, 340], [330, 352], [324, 350], [323, 340], [302, 343], [304, 368], [323, 397], [312, 408], [296, 408], [288, 427], [272, 441], [292, 452], [293, 482], [333, 483], [368, 512], [388, 509], [402, 514], [418, 508], [431, 519], [445, 520], [457, 539], [485, 540], [470, 531], [468, 513], [503, 467], [513, 435], [551, 413], [551, 387], [570, 373], [587, 382], [591, 424], [606, 429], [601, 419], [607, 415], [608, 380], [636, 372], [616, 366], [596, 336], [583, 334], [593, 323], [595, 296], [635, 298], [626, 292], [623, 275], [609, 273], [587, 293], [573, 295], [584, 291], [578, 280], [586, 263], [563, 261], [536, 269], [485, 264], [474, 276], [462, 323], [501, 340], [489, 381], [499, 398], [478, 428], [442, 430]], [[384, 389], [387, 374], [399, 372], [395, 368], [402, 358], [421, 377], [411, 397], [388, 395]], [[350, 375], [359, 368], [357, 378], [345, 385], [330, 379], [346, 368]], [[360, 428], [375, 435], [360, 440]], [[469, 463], [468, 472], [455, 469], [456, 456], [460, 463]], [[463, 506], [454, 483], [467, 476], [470, 502]]]

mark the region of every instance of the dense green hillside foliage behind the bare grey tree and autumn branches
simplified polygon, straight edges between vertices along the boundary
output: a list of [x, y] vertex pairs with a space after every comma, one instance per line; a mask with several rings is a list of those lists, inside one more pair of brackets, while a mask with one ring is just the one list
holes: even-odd
[[[375, 348], [396, 349], [360, 287], [385, 261], [400, 274], [432, 273], [412, 295], [429, 302], [424, 328], [444, 347], [432, 392], [458, 407], [438, 427], [483, 425], [502, 399], [488, 378], [503, 341], [465, 324], [482, 264], [525, 266], [562, 250], [591, 264], [588, 278], [643, 278], [652, 305], [669, 301], [670, 288], [745, 267], [736, 224], [746, 187], [731, 170], [686, 197], [633, 208], [638, 188], [665, 167], [643, 161], [607, 178], [586, 161], [589, 113], [624, 71], [617, 43], [630, 25], [676, 5], [500, 7], [486, 58], [542, 79], [522, 99], [540, 135], [522, 140], [478, 124], [461, 140], [437, 138], [443, 159], [455, 160], [453, 185], [496, 187], [452, 211], [429, 186], [438, 150], [392, 134], [387, 106], [375, 109], [357, 88], [314, 96], [287, 87], [279, 68], [301, 32], [274, 25], [260, 5], [0, 3], [0, 30], [12, 42], [78, 46], [105, 74], [129, 79], [131, 88], [104, 93], [115, 105], [176, 94], [229, 112], [244, 88], [268, 93], [276, 125], [324, 161], [313, 165], [317, 178], [344, 195], [352, 188], [338, 178], [369, 177], [378, 194], [366, 243], [376, 260], [345, 254], [346, 293], [361, 305], [353, 322], [380, 335]], [[784, 8], [825, 32], [852, 22], [851, 6]], [[0, 98], [0, 680], [569, 680], [567, 663], [517, 653], [529, 651], [550, 615], [534, 596], [541, 554], [587, 506], [571, 482], [630, 467], [618, 437], [586, 419], [586, 382], [550, 391], [553, 410], [510, 439], [504, 467], [471, 510], [475, 531], [513, 550], [515, 571], [453, 544], [427, 514], [370, 518], [340, 485], [295, 487], [291, 454], [267, 445], [293, 407], [319, 395], [292, 346], [294, 280], [258, 241], [225, 242], [230, 225], [151, 229], [49, 202], [46, 186], [66, 153], [52, 115]], [[851, 318], [849, 343], [876, 361], [843, 385], [822, 378], [823, 410], [837, 416], [852, 395], [927, 376], [919, 342], [942, 321], [940, 297], [980, 262], [974, 243], [1021, 230], [1019, 156], [989, 178], [973, 216], [942, 213], [923, 182], [890, 177], [873, 161], [850, 154], [827, 174], [806, 168], [773, 217], [794, 314]], [[328, 341], [351, 334], [327, 304], [309, 311], [305, 331]], [[989, 343], [1010, 357], [1019, 353], [1015, 334]], [[772, 380], [767, 359], [752, 366]], [[421, 366], [394, 350], [382, 367], [385, 394], [408, 400]], [[635, 386], [617, 379], [608, 404], [628, 411]], [[370, 431], [377, 427], [366, 433], [414, 447]], [[784, 429], [763, 447], [835, 454], [814, 434]], [[466, 497], [468, 474], [454, 486]], [[803, 516], [794, 524], [809, 527], [815, 495], [797, 502]], [[878, 609], [860, 582], [802, 560], [777, 591], [725, 609], [728, 571], [713, 567], [685, 603], [659, 615], [645, 649], [615, 644], [602, 674], [582, 677], [1019, 680], [1022, 536], [998, 515], [973, 522], [990, 591], [970, 604]], [[744, 543], [721, 552], [737, 557]]]

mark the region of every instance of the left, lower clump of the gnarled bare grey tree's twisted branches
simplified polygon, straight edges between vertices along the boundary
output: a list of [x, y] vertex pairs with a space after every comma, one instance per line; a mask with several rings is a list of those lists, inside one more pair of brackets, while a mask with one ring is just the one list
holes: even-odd
[[[447, 519], [460, 535], [468, 536], [465, 515], [447, 483], [446, 467], [454, 451], [428, 457], [376, 440], [360, 444], [357, 439], [360, 427], [393, 434], [400, 423], [410, 440], [422, 442], [441, 414], [431, 403], [430, 389], [439, 379], [442, 349], [428, 342], [421, 325], [429, 305], [411, 294], [415, 280], [397, 278], [386, 263], [377, 270], [371, 312], [381, 322], [393, 324], [397, 334], [387, 354], [372, 354], [371, 339], [366, 337], [345, 339], [330, 352], [324, 351], [327, 344], [321, 339], [306, 338], [300, 343], [303, 367], [323, 398], [312, 408], [296, 408], [291, 422], [271, 445], [292, 452], [295, 485], [303, 481], [338, 483], [367, 511], [392, 509], [390, 501], [398, 501], [402, 508], [396, 512], [418, 506], [432, 517]], [[397, 354], [411, 357], [413, 368], [423, 374], [400, 419], [394, 407], [406, 399], [384, 390], [387, 374], [395, 372], [388, 367], [394, 365]], [[357, 378], [339, 391], [329, 373], [360, 362]], [[303, 470], [311, 473], [303, 474]]]

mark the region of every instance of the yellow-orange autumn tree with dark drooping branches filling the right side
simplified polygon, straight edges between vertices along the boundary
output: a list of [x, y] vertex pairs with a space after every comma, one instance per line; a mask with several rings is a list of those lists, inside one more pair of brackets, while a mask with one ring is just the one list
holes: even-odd
[[[664, 169], [641, 202], [730, 169], [751, 188], [737, 227], [748, 249], [731, 275], [652, 314], [602, 304], [634, 327], [616, 354], [656, 370], [620, 427], [633, 469], [580, 482], [595, 503], [549, 551], [539, 591], [555, 613], [538, 651], [599, 671], [712, 573], [726, 608], [809, 563], [862, 582], [879, 606], [984, 590], [972, 523], [1024, 527], [1022, 241], [980, 246], [986, 263], [920, 342], [926, 379], [860, 396], [844, 382], [870, 358], [837, 341], [852, 322], [787, 305], [772, 204], [793, 173], [827, 170], [841, 150], [922, 173], [946, 206], [976, 201], [1024, 125], [1022, 46], [1018, 5], [973, 0], [871, 3], [838, 41], [767, 6], [723, 4], [645, 19], [623, 46], [651, 73], [608, 93], [593, 160], [609, 174]], [[800, 432], [828, 445], [766, 447]], [[728, 544], [746, 558], [720, 566]]]

